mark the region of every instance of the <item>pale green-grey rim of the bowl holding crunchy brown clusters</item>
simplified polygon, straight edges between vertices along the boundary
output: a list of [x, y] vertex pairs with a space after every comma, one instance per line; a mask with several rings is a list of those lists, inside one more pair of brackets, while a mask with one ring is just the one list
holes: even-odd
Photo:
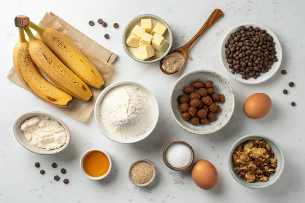
[[[281, 167], [279, 168], [278, 171], [276, 171], [276, 173], [274, 173], [273, 175], [276, 174], [276, 177], [274, 177], [274, 179], [272, 181], [268, 180], [267, 182], [262, 182], [260, 185], [252, 185], [251, 183], [248, 183], [246, 182], [245, 180], [242, 180], [241, 178], [239, 178], [236, 173], [234, 172], [233, 170], [233, 164], [232, 164], [232, 154], [233, 154], [233, 151], [236, 149], [236, 147], [240, 144], [242, 144], [244, 141], [242, 141], [243, 139], [247, 139], [247, 140], [253, 140], [253, 137], [260, 137], [262, 139], [268, 139], [270, 140], [277, 148], [278, 148], [278, 151], [280, 152], [280, 155], [279, 157], [281, 157], [281, 162], [282, 162], [282, 165]], [[245, 135], [245, 136], [242, 136], [241, 138], [239, 138], [231, 147], [229, 153], [228, 153], [228, 167], [229, 167], [229, 171], [232, 175], [232, 177], [241, 185], [245, 186], [245, 187], [248, 187], [248, 188], [252, 188], [252, 189], [261, 189], [261, 188], [264, 188], [264, 187], [268, 187], [272, 184], [274, 184], [282, 175], [283, 173], [283, 170], [284, 170], [284, 166], [285, 166], [285, 157], [284, 157], [284, 153], [282, 151], [282, 148], [280, 147], [280, 145], [275, 142], [274, 139], [266, 136], [266, 135], [261, 135], [261, 134], [250, 134], [250, 135]]]

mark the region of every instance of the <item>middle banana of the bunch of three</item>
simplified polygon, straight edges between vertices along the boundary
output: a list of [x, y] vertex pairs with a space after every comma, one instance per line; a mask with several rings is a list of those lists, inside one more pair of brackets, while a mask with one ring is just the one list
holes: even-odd
[[45, 43], [34, 37], [28, 26], [24, 30], [30, 38], [30, 56], [41, 72], [66, 93], [83, 101], [91, 101], [92, 93], [87, 84], [66, 67]]

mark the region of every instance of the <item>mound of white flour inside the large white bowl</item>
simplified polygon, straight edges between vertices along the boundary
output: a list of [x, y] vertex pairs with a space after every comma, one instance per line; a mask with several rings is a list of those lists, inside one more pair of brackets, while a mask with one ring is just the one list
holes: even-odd
[[112, 135], [134, 138], [152, 125], [153, 107], [145, 90], [134, 85], [120, 85], [109, 90], [101, 102], [102, 124]]

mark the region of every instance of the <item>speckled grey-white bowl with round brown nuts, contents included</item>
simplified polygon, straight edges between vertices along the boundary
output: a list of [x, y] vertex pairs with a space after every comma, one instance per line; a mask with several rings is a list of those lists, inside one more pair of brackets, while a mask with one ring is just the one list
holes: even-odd
[[184, 130], [207, 135], [231, 119], [235, 98], [229, 82], [217, 72], [196, 70], [182, 75], [170, 95], [170, 110]]

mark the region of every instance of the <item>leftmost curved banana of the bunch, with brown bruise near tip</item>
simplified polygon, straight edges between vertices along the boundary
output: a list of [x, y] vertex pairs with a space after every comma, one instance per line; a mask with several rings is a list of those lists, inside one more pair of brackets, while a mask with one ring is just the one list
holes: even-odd
[[45, 79], [36, 68], [29, 54], [29, 42], [25, 39], [23, 28], [19, 29], [19, 41], [14, 47], [13, 63], [23, 85], [38, 99], [56, 107], [68, 107], [72, 96]]

